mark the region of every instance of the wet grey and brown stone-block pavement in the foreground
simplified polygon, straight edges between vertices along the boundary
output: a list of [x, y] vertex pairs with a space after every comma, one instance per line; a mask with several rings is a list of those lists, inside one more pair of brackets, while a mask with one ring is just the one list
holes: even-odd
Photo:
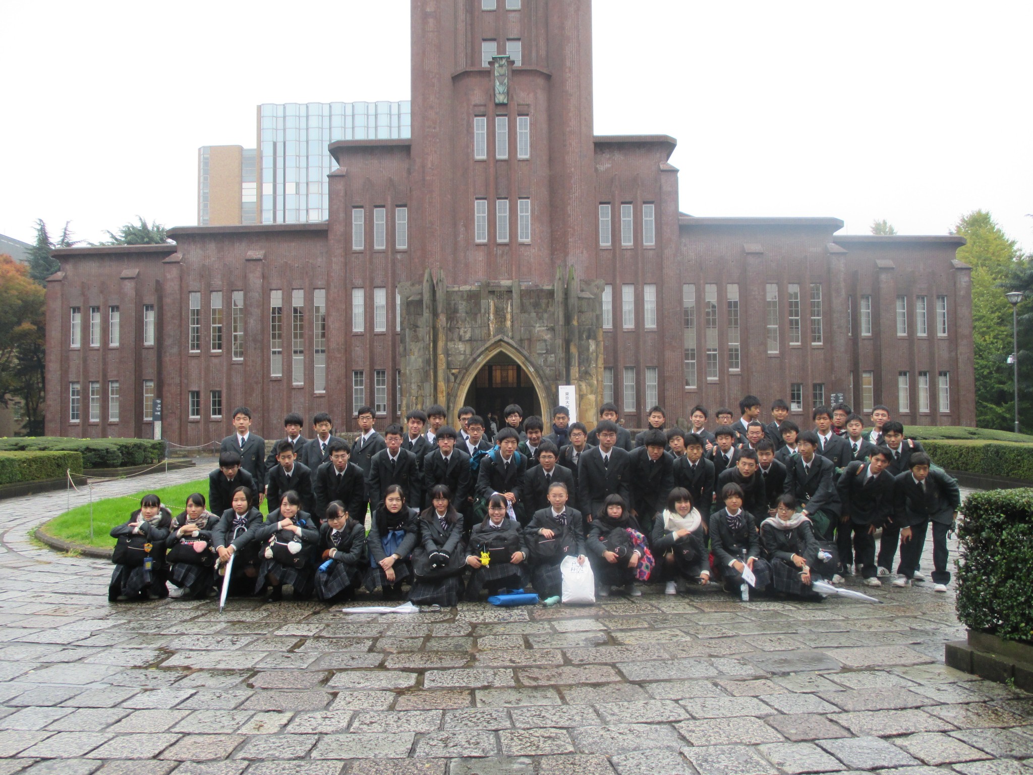
[[27, 537], [65, 504], [0, 503], [0, 775], [1033, 775], [1033, 699], [943, 665], [963, 630], [928, 584], [875, 590], [881, 606], [650, 588], [578, 609], [219, 615], [108, 605], [111, 565]]

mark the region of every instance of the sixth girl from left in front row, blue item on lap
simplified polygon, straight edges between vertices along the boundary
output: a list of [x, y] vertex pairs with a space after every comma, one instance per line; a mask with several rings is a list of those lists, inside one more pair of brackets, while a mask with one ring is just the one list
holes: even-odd
[[405, 491], [390, 485], [384, 491], [384, 504], [370, 519], [367, 547], [370, 567], [364, 586], [372, 592], [383, 590], [384, 599], [401, 596], [402, 584], [412, 581], [410, 555], [416, 548], [416, 519], [419, 512], [405, 504]]

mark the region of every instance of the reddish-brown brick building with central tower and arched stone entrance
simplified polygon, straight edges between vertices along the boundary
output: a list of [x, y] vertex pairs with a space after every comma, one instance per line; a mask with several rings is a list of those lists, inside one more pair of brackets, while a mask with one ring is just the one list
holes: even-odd
[[411, 137], [332, 143], [326, 221], [56, 251], [48, 433], [149, 436], [155, 397], [181, 444], [238, 404], [345, 431], [561, 384], [632, 427], [746, 393], [974, 424], [961, 238], [680, 213], [675, 140], [593, 134], [591, 42], [589, 0], [413, 0]]

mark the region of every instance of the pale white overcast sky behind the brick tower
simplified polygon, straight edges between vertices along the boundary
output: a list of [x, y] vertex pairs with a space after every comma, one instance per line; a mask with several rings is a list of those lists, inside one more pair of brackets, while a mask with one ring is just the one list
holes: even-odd
[[[982, 208], [1033, 249], [1033, 3], [595, 0], [593, 28], [595, 131], [677, 137], [684, 212]], [[27, 242], [196, 223], [197, 148], [254, 147], [260, 102], [409, 97], [405, 0], [0, 0], [0, 234]]]

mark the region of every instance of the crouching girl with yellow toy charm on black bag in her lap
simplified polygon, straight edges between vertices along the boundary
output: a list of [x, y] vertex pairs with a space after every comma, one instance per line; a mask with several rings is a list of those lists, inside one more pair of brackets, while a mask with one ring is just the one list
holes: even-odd
[[[484, 554], [489, 556], [487, 565], [481, 561]], [[520, 523], [509, 519], [505, 498], [495, 493], [488, 499], [488, 517], [470, 532], [466, 564], [471, 571], [466, 599], [479, 599], [484, 588], [490, 595], [500, 589], [523, 589], [526, 557], [527, 546]]]

